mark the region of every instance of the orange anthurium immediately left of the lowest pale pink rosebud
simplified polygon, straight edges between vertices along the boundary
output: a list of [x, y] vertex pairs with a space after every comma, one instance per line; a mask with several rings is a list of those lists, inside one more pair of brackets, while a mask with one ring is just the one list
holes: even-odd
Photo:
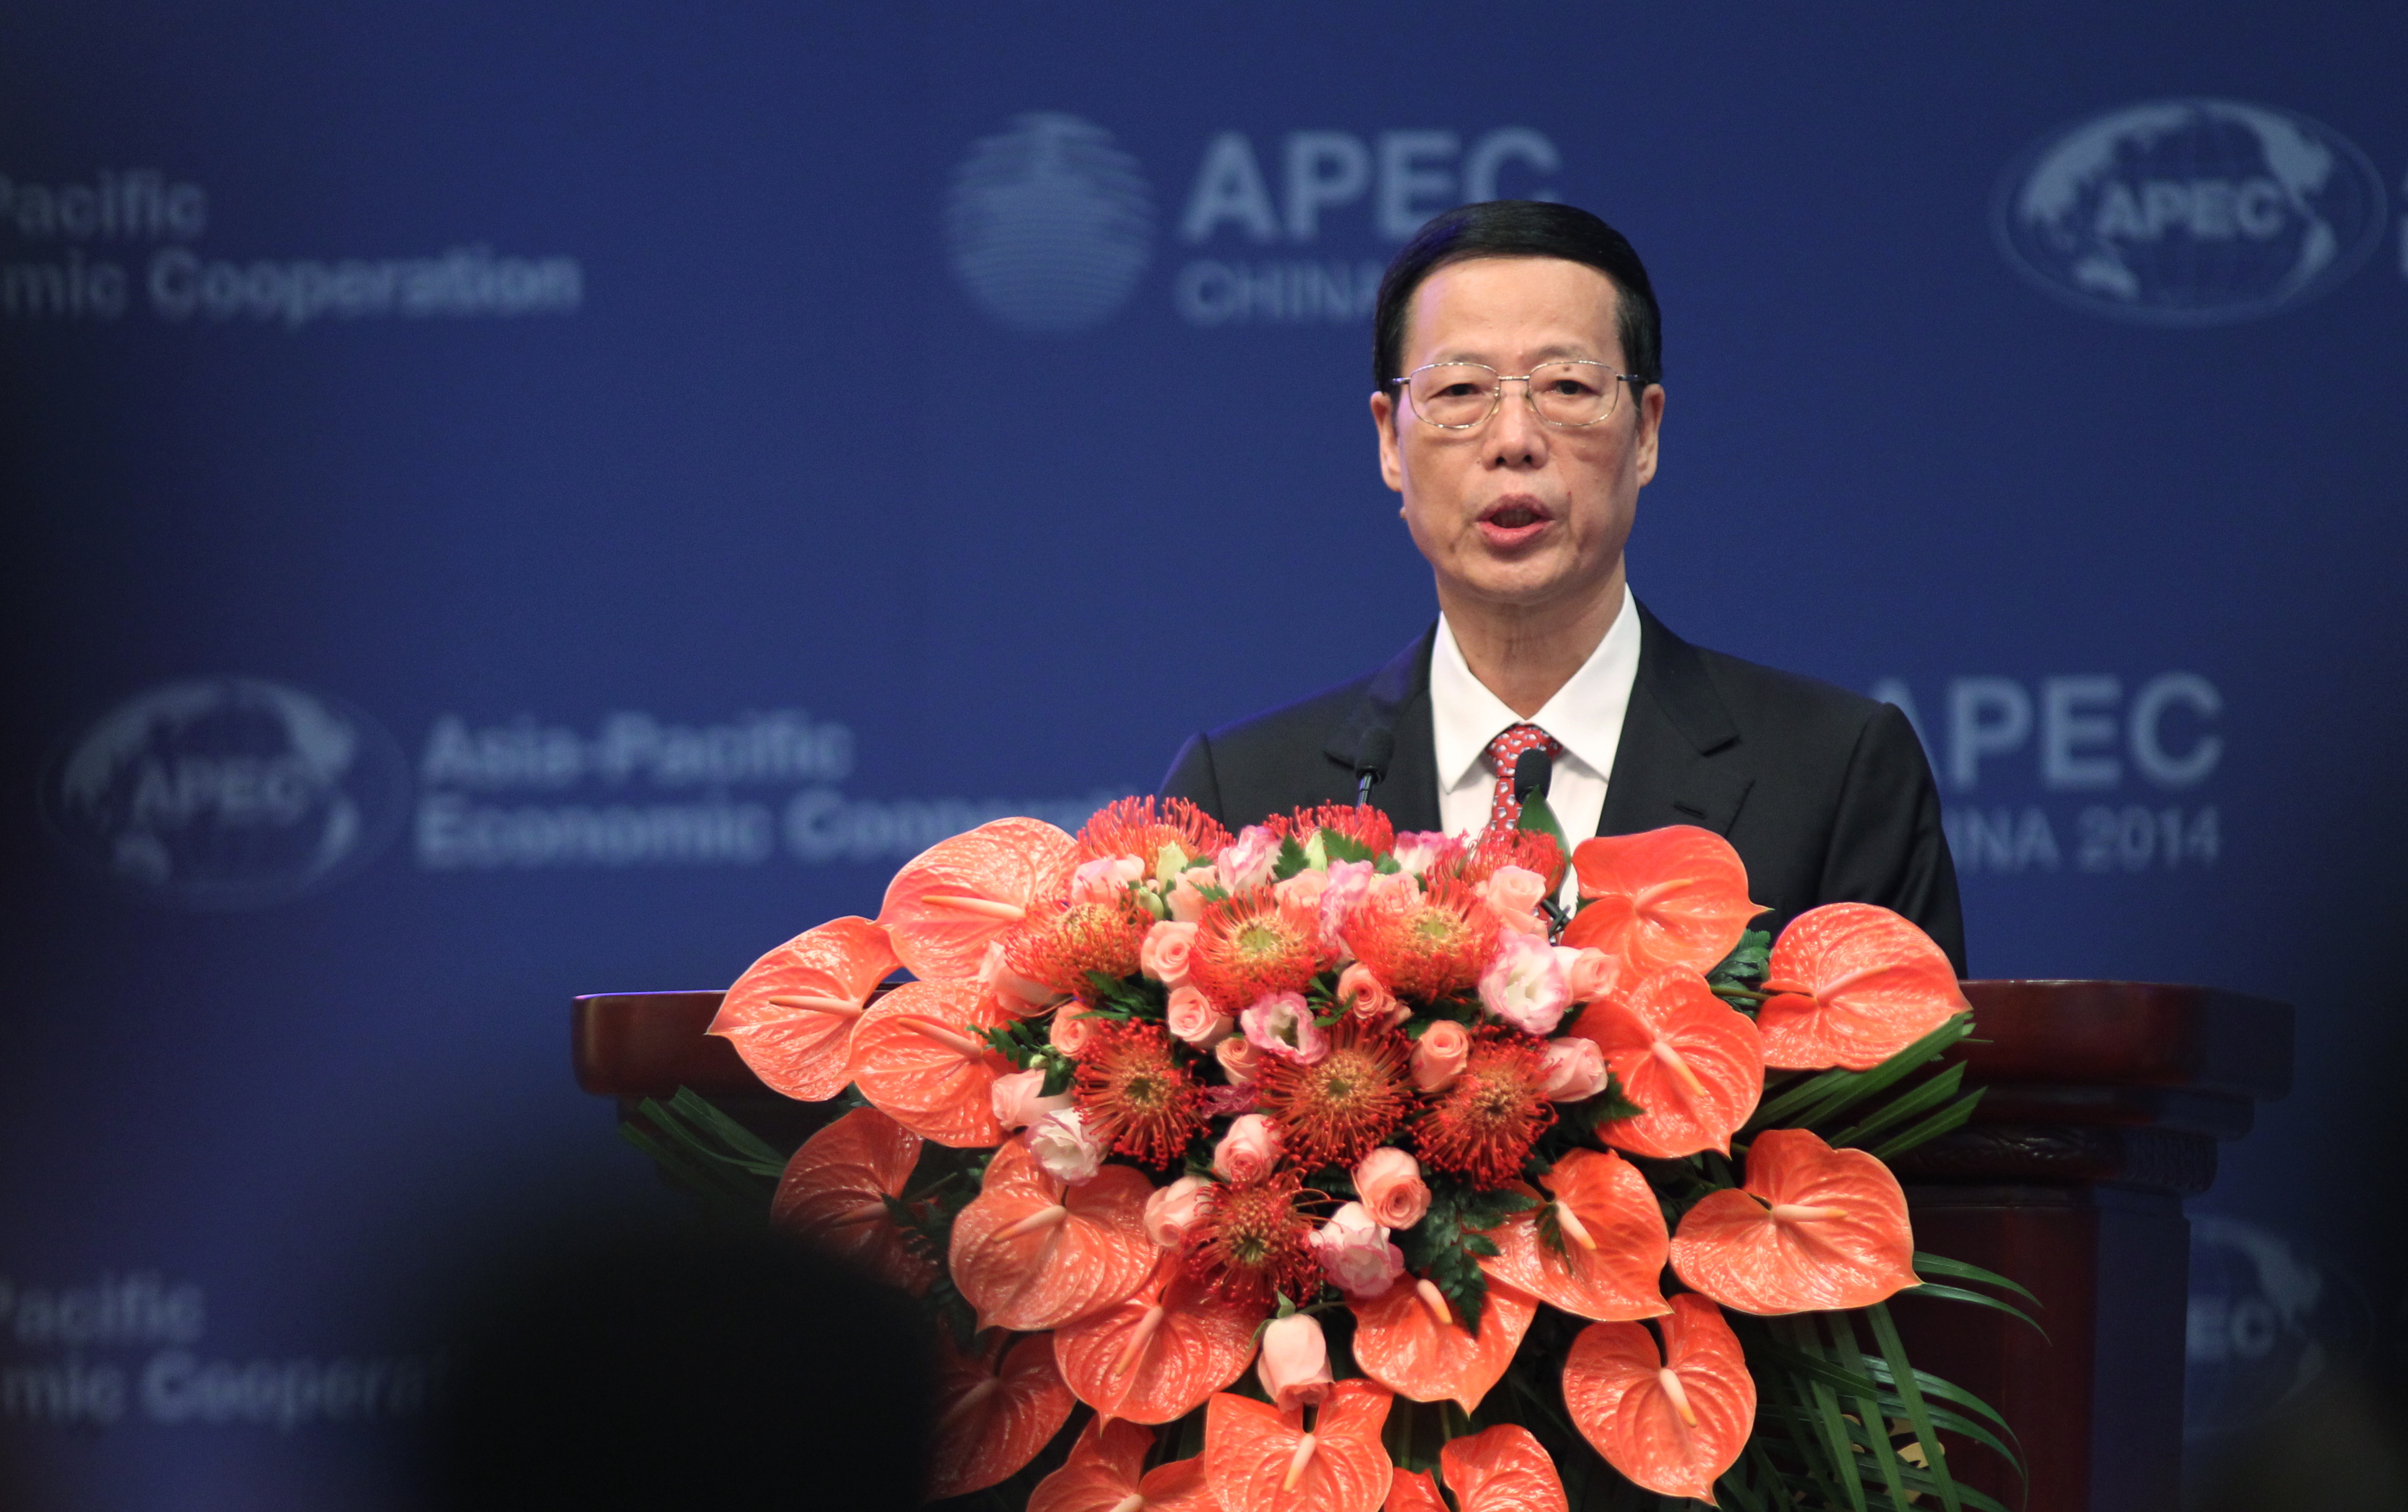
[[1235, 1303], [1178, 1257], [1129, 1300], [1055, 1329], [1062, 1380], [1098, 1413], [1168, 1423], [1245, 1375], [1269, 1303]]

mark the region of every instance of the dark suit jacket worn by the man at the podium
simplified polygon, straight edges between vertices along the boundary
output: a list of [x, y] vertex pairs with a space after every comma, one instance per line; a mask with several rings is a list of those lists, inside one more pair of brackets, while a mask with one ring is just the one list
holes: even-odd
[[[1370, 677], [1197, 734], [1163, 778], [1238, 828], [1300, 804], [1351, 804], [1356, 751], [1377, 725], [1397, 756], [1370, 790], [1399, 831], [1435, 831], [1433, 624]], [[1888, 703], [1702, 650], [1640, 607], [1640, 679], [1623, 715], [1597, 833], [1698, 823], [1748, 864], [1780, 929], [1818, 903], [1881, 903], [1965, 973], [1965, 917], [1941, 799], [1914, 727]], [[1577, 840], [1580, 835], [1575, 835]]]

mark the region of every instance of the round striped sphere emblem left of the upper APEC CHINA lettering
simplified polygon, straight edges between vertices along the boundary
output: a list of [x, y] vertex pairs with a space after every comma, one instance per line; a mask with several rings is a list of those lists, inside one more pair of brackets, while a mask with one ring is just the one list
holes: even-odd
[[1153, 253], [1153, 202], [1112, 132], [1033, 113], [970, 149], [946, 234], [980, 308], [1014, 330], [1074, 332], [1129, 299]]

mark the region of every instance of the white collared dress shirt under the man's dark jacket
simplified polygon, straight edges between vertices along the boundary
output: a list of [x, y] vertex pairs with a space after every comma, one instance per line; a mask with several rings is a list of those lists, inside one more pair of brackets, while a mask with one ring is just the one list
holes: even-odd
[[[1613, 775], [1613, 751], [1623, 744], [1623, 713], [1637, 679], [1640, 609], [1623, 583], [1623, 607], [1606, 638], [1572, 681], [1556, 689], [1546, 708], [1527, 720], [1563, 746], [1546, 804], [1575, 845], [1597, 833], [1606, 811], [1606, 780]], [[1454, 626], [1440, 614], [1438, 640], [1430, 645], [1430, 734], [1438, 746], [1438, 819], [1450, 835], [1486, 828], [1498, 780], [1488, 766], [1488, 742], [1522, 722], [1471, 674], [1454, 643]]]

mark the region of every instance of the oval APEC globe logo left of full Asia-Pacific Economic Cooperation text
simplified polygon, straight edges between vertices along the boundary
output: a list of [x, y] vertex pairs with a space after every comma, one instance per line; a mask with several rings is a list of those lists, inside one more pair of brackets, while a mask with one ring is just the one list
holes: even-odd
[[400, 828], [409, 770], [368, 715], [248, 677], [166, 684], [53, 763], [43, 814], [67, 852], [190, 908], [262, 908], [366, 864]]

